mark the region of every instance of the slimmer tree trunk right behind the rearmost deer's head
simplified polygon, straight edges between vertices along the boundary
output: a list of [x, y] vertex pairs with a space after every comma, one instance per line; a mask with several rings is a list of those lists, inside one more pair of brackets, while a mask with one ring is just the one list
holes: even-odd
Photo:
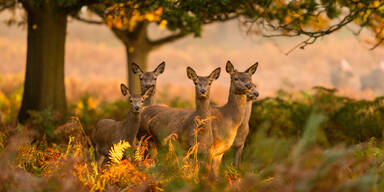
[[129, 89], [132, 93], [140, 94], [140, 82], [137, 75], [132, 72], [132, 62], [140, 66], [141, 70], [148, 70], [148, 55], [150, 49], [143, 45], [125, 45], [127, 55], [127, 70]]

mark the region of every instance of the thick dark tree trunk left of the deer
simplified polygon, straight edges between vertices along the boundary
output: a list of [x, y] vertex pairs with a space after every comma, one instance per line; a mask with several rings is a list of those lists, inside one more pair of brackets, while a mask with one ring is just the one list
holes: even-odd
[[24, 94], [18, 119], [25, 122], [28, 111], [47, 107], [65, 114], [64, 52], [67, 13], [57, 3], [42, 3], [28, 12], [27, 66]]

